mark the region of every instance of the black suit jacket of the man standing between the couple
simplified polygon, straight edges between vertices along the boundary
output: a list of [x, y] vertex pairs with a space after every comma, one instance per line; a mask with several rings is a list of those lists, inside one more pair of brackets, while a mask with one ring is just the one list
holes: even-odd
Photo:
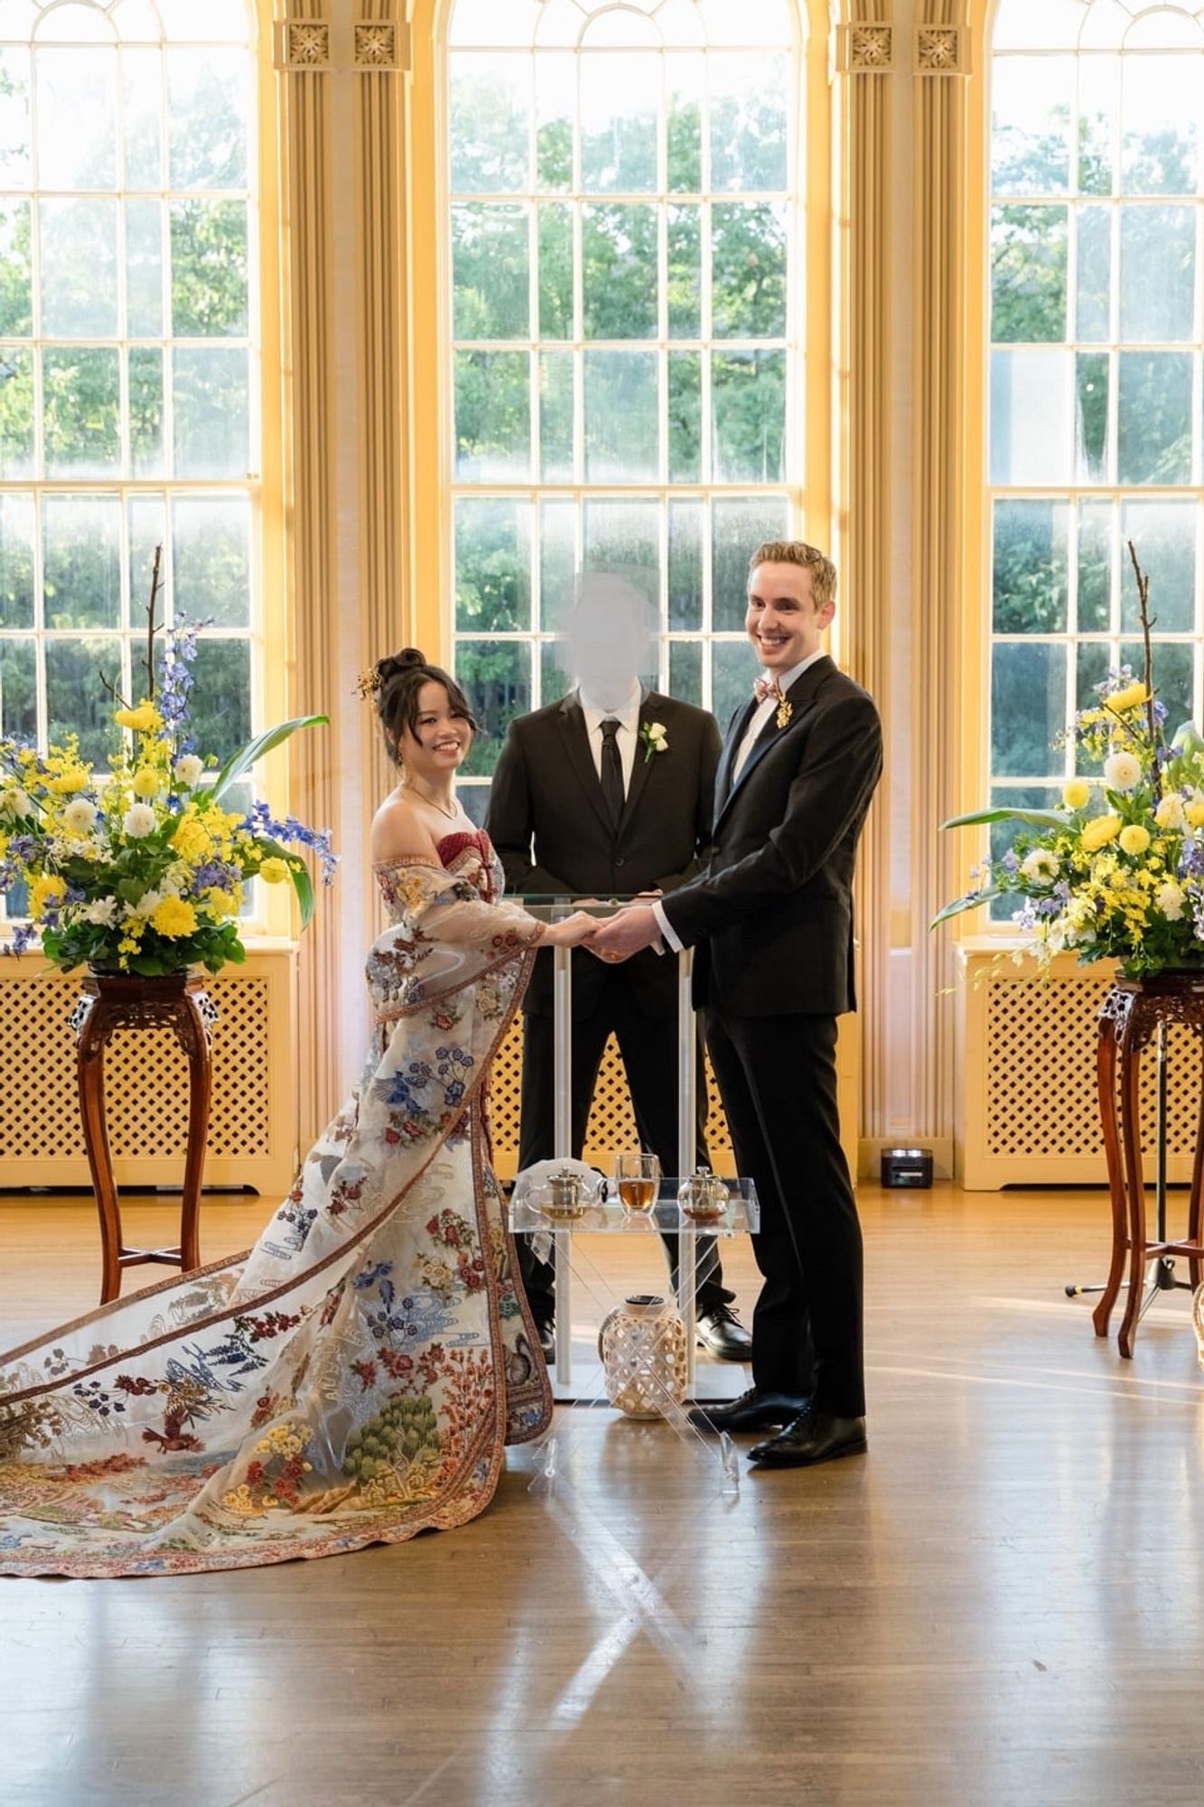
[[[577, 696], [510, 723], [494, 772], [486, 829], [508, 891], [609, 898], [676, 891], [707, 866], [720, 759], [714, 716], [649, 690], [640, 726], [660, 721], [667, 750], [636, 748], [618, 829], [611, 826]], [[622, 967], [573, 952], [573, 1016], [598, 1008], [609, 985], [633, 988], [649, 1016], [674, 1010], [676, 961], [645, 950]], [[541, 954], [522, 1008], [551, 1014], [551, 956]]]

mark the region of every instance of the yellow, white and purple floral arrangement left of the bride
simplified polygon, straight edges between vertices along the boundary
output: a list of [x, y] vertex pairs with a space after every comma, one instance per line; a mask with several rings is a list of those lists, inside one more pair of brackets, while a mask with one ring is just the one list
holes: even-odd
[[324, 884], [334, 875], [329, 835], [266, 804], [226, 808], [231, 786], [296, 728], [325, 716], [300, 716], [257, 735], [217, 768], [193, 750], [188, 726], [197, 625], [163, 631], [163, 676], [155, 696], [155, 551], [146, 609], [146, 692], [125, 703], [112, 685], [114, 752], [92, 772], [78, 735], [45, 754], [0, 739], [0, 896], [27, 891], [29, 922], [16, 923], [4, 952], [38, 936], [65, 972], [159, 976], [202, 965], [217, 972], [242, 961], [240, 887], [246, 878], [293, 884], [302, 927], [313, 914], [306, 862], [287, 844], [309, 847]]

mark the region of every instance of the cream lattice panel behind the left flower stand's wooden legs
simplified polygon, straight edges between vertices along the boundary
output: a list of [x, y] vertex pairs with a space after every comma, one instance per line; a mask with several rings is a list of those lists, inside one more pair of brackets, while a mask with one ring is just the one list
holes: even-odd
[[[273, 1153], [269, 1113], [268, 979], [208, 985], [213, 1028], [210, 1156]], [[74, 979], [0, 978], [0, 1162], [83, 1160], [76, 1044], [67, 1017]], [[188, 1063], [168, 1030], [118, 1030], [105, 1052], [108, 1138], [114, 1158], [183, 1160]]]

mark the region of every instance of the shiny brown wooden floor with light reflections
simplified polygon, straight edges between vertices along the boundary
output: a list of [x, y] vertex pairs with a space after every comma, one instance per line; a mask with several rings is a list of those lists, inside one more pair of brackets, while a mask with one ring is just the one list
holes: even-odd
[[[513, 1451], [463, 1531], [0, 1581], [4, 1807], [1199, 1807], [1190, 1296], [1126, 1362], [1063, 1296], [1101, 1270], [1101, 1193], [861, 1205], [868, 1456], [725, 1500], [665, 1426], [564, 1408], [559, 1484]], [[206, 1259], [260, 1216], [208, 1203]], [[0, 1346], [94, 1287], [87, 1200], [0, 1200]]]

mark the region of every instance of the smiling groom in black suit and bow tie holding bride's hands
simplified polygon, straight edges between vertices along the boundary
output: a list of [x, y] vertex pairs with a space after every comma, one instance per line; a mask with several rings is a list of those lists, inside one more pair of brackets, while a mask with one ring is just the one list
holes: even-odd
[[821, 647], [835, 569], [814, 546], [752, 555], [745, 629], [761, 665], [729, 726], [703, 876], [604, 923], [591, 950], [698, 943], [696, 1003], [739, 1171], [756, 1180], [763, 1287], [754, 1386], [700, 1428], [783, 1426], [765, 1465], [866, 1447], [862, 1252], [837, 1117], [837, 1016], [853, 997], [853, 857], [882, 770], [873, 701]]

